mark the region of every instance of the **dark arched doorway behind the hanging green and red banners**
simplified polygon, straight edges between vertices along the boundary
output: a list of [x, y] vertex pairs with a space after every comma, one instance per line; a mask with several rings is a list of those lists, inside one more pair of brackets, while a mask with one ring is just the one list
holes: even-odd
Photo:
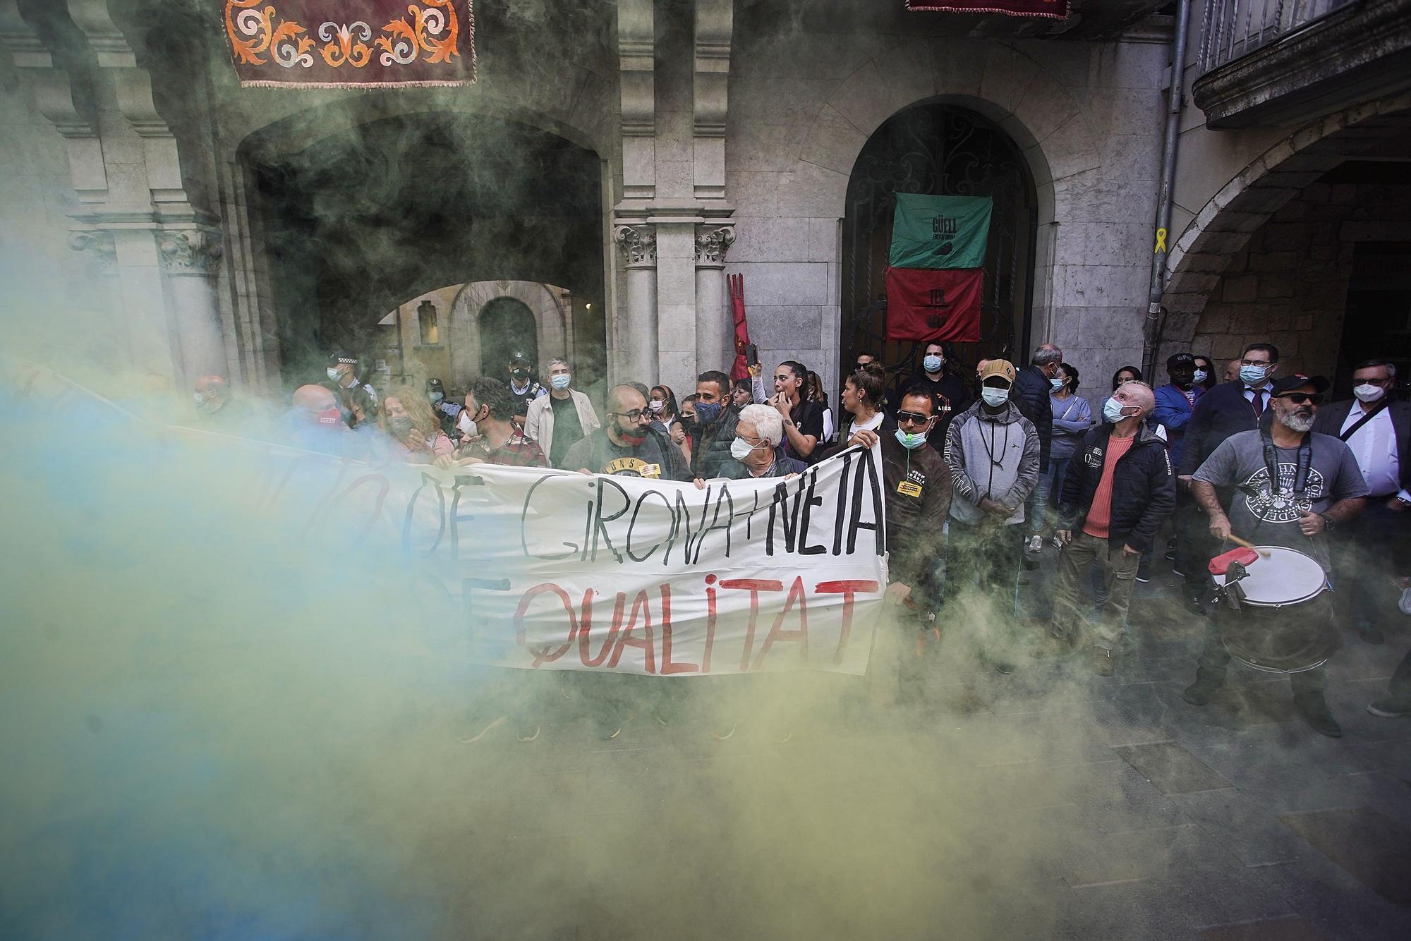
[[859, 351], [893, 372], [920, 363], [921, 344], [886, 340], [883, 274], [896, 193], [989, 196], [981, 341], [955, 344], [959, 363], [1013, 358], [1029, 346], [1037, 198], [1019, 147], [999, 126], [965, 107], [917, 104], [888, 119], [854, 162], [842, 223], [842, 375]]

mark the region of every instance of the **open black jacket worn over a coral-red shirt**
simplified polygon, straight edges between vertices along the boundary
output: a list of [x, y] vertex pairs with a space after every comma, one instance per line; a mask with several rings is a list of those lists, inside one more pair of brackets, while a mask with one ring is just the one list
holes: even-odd
[[[1102, 480], [1102, 461], [1108, 453], [1112, 425], [1103, 422], [1088, 432], [1082, 447], [1068, 463], [1058, 516], [1062, 529], [1082, 529], [1092, 508], [1092, 497]], [[1146, 552], [1156, 539], [1161, 521], [1175, 509], [1175, 474], [1165, 439], [1143, 423], [1137, 440], [1118, 460], [1112, 473], [1112, 519], [1108, 523], [1108, 552], [1126, 543]]]

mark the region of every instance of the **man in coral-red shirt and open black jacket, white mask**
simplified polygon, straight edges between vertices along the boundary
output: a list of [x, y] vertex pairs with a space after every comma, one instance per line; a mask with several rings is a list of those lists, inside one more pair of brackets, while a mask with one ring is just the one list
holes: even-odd
[[[1048, 642], [1034, 656], [1074, 650], [1086, 618], [1078, 587], [1096, 561], [1108, 587], [1094, 638], [1094, 669], [1112, 676], [1112, 649], [1126, 631], [1137, 563], [1161, 522], [1175, 509], [1175, 474], [1167, 442], [1147, 426], [1156, 395], [1146, 382], [1125, 382], [1102, 406], [1102, 425], [1074, 454], [1058, 499], [1058, 584]], [[1085, 607], [1085, 605], [1084, 605]]]

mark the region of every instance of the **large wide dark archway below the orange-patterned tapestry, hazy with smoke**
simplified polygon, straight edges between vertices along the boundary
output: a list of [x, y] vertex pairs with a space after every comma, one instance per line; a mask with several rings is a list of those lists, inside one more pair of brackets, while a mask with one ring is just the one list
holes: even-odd
[[[490, 114], [380, 116], [374, 100], [361, 110], [368, 120], [322, 134], [279, 126], [241, 150], [261, 221], [267, 296], [292, 378], [322, 372], [330, 348], [363, 356], [388, 339], [415, 347], [426, 370], [457, 384], [487, 361], [491, 375], [504, 375], [512, 348], [557, 356], [570, 334], [588, 363], [605, 361], [598, 155]], [[387, 312], [408, 298], [490, 279], [560, 286], [574, 299], [563, 312], [573, 329], [547, 337], [550, 350], [531, 316], [529, 329], [515, 334], [518, 346], [477, 348], [460, 364], [450, 358], [449, 303], [433, 298], [435, 339], [385, 336]], [[418, 309], [404, 313], [422, 319]], [[440, 360], [428, 364], [437, 351]], [[387, 365], [396, 371], [401, 357]]]

